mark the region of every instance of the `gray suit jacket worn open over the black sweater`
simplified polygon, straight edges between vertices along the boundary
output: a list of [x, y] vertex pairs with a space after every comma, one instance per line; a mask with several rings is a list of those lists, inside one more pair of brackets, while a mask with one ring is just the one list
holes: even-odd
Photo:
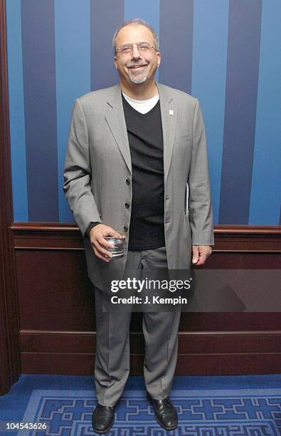
[[[213, 245], [206, 136], [201, 109], [191, 95], [157, 83], [164, 137], [164, 226], [169, 269], [188, 269], [191, 244]], [[125, 234], [124, 256], [97, 259], [84, 238], [88, 274], [102, 288], [102, 273], [122, 275], [127, 259], [132, 203], [132, 162], [120, 85], [75, 100], [65, 157], [63, 190], [85, 236], [100, 221]]]

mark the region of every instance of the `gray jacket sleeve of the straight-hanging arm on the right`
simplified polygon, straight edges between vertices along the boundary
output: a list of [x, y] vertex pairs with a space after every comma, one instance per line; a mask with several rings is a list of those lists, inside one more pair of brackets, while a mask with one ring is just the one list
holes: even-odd
[[193, 118], [192, 154], [188, 183], [192, 245], [213, 245], [213, 212], [208, 175], [206, 134], [201, 108], [197, 99]]

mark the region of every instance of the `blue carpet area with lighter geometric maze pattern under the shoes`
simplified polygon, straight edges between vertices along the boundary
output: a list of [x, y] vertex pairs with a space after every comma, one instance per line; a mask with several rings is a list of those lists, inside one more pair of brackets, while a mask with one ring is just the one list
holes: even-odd
[[[281, 388], [173, 390], [171, 399], [179, 414], [178, 430], [161, 429], [143, 390], [126, 390], [115, 408], [115, 425], [107, 434], [281, 435]], [[21, 430], [18, 436], [90, 436], [95, 404], [89, 390], [33, 390], [23, 422], [45, 422], [47, 429]]]

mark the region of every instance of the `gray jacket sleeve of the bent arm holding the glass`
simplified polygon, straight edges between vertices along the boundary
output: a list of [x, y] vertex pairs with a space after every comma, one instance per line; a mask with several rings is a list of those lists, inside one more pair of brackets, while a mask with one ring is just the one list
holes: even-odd
[[90, 222], [100, 221], [91, 190], [91, 177], [88, 128], [78, 98], [75, 100], [70, 121], [68, 150], [63, 170], [63, 192], [83, 237]]

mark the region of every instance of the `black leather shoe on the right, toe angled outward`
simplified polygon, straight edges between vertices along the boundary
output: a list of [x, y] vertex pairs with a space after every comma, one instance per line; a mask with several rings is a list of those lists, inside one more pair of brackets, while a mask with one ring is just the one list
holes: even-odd
[[154, 407], [155, 417], [161, 427], [165, 430], [176, 430], [178, 427], [178, 415], [169, 397], [164, 398], [164, 400], [154, 400], [150, 395], [147, 395], [147, 398]]

